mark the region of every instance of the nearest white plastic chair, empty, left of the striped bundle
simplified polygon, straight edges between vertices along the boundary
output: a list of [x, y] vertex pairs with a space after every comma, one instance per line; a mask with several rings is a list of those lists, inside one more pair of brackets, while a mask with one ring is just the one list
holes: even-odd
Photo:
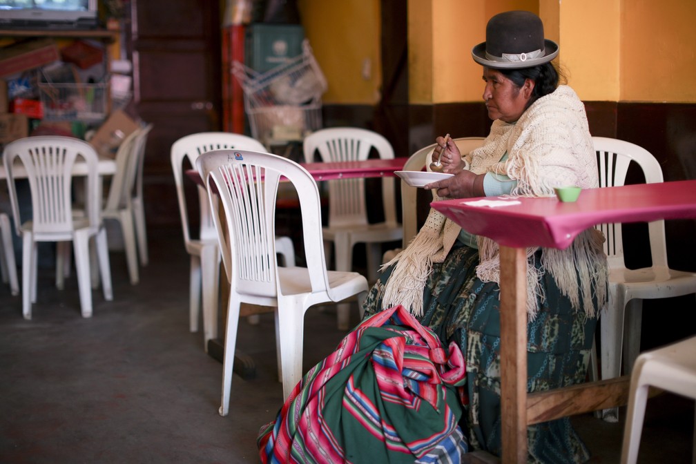
[[[299, 164], [275, 154], [245, 150], [216, 150], [196, 161], [207, 179], [226, 273], [230, 278], [223, 390], [220, 414], [227, 415], [242, 303], [275, 307], [276, 350], [287, 398], [302, 376], [303, 318], [310, 306], [367, 295], [367, 280], [354, 272], [326, 271], [322, 246], [322, 210], [313, 177]], [[276, 195], [280, 177], [297, 191], [307, 267], [279, 267], [276, 257]], [[263, 179], [264, 182], [255, 182]], [[225, 225], [221, 218], [225, 218]]]

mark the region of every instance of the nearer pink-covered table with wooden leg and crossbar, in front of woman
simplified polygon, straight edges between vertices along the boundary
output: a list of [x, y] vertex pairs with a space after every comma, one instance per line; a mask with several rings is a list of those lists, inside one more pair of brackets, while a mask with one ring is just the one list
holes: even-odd
[[501, 457], [504, 463], [525, 463], [528, 424], [625, 404], [628, 377], [527, 394], [524, 248], [567, 248], [577, 234], [601, 223], [696, 218], [696, 180], [588, 189], [574, 203], [516, 198], [519, 204], [503, 207], [466, 204], [475, 200], [481, 199], [431, 205], [468, 232], [500, 245], [500, 336], [505, 340], [500, 345]]

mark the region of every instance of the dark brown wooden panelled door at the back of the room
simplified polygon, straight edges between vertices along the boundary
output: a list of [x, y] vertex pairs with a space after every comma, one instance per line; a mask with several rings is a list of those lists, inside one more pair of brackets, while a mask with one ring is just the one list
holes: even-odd
[[153, 125], [143, 177], [148, 225], [180, 227], [171, 145], [187, 134], [221, 129], [220, 21], [218, 2], [130, 1], [125, 52], [133, 61], [132, 108]]

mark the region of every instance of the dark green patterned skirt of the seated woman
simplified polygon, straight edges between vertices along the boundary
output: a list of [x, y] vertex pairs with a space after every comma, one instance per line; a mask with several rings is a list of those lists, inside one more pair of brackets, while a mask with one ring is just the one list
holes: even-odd
[[[534, 257], [541, 267], [541, 250]], [[423, 290], [423, 316], [447, 346], [452, 340], [466, 358], [468, 404], [461, 426], [470, 449], [500, 456], [500, 289], [476, 277], [478, 250], [455, 245], [434, 264]], [[393, 266], [380, 273], [365, 300], [365, 317], [381, 308], [384, 284]], [[546, 298], [527, 326], [527, 391], [538, 392], [585, 381], [596, 318], [571, 309], [549, 273], [542, 273]], [[597, 307], [596, 301], [593, 302]], [[582, 307], [582, 302], [580, 304]], [[528, 427], [528, 462], [583, 463], [590, 454], [568, 417]]]

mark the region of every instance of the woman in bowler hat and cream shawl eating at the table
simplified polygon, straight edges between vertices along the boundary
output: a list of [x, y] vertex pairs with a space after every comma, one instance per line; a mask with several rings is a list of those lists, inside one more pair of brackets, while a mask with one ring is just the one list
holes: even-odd
[[[526, 11], [491, 18], [486, 42], [472, 50], [483, 65], [483, 97], [493, 120], [484, 145], [463, 161], [457, 145], [438, 137], [445, 172], [425, 186], [436, 200], [553, 195], [553, 188], [598, 186], [585, 107], [559, 85], [541, 19]], [[436, 155], [434, 155], [436, 156]], [[464, 168], [466, 166], [467, 168]], [[606, 304], [603, 237], [594, 229], [566, 250], [530, 248], [528, 256], [529, 392], [585, 381], [594, 328]], [[500, 455], [500, 262], [498, 246], [473, 237], [432, 209], [418, 235], [392, 261], [364, 303], [365, 317], [404, 305], [466, 358], [470, 448]], [[568, 418], [528, 428], [529, 462], [583, 462], [589, 454]]]

